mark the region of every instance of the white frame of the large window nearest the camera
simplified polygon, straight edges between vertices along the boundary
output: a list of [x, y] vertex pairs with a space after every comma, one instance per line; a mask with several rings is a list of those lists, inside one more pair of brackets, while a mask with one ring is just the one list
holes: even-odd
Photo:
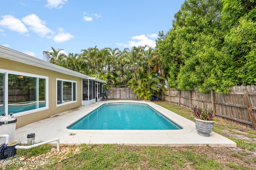
[[[4, 113], [6, 115], [9, 115], [8, 111], [8, 75], [9, 74], [14, 74], [14, 75], [22, 75], [22, 76], [28, 76], [32, 78], [36, 78], [36, 100], [37, 100], [37, 108], [36, 109], [31, 109], [27, 111], [22, 111], [18, 113], [14, 113], [15, 116], [20, 116], [20, 115], [26, 115], [30, 113], [34, 113], [37, 111], [42, 111], [45, 109], [49, 109], [49, 77], [48, 76], [41, 76], [38, 74], [30, 74], [26, 72], [19, 72], [19, 71], [13, 71], [13, 70], [5, 70], [5, 69], [0, 69], [0, 73], [4, 74]], [[45, 107], [39, 107], [39, 78], [45, 79]]]

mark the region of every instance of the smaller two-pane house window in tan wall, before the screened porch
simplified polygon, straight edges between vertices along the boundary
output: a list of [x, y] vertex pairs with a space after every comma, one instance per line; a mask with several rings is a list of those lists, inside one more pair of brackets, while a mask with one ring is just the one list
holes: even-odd
[[57, 105], [76, 101], [76, 82], [57, 80]]

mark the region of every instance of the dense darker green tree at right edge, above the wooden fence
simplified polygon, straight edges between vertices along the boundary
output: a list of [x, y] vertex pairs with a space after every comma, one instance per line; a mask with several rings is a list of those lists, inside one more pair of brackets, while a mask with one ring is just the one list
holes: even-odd
[[226, 35], [222, 51], [229, 59], [225, 76], [234, 85], [256, 84], [256, 23], [241, 18]]

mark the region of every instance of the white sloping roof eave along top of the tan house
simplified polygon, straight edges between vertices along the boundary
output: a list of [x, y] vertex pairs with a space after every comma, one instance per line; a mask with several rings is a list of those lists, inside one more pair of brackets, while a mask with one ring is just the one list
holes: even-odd
[[[63, 74], [68, 74], [68, 75], [71, 75], [71, 76], [80, 77], [80, 78], [90, 77], [90, 76], [87, 76], [85, 74], [70, 70], [68, 68], [64, 68], [62, 66], [58, 66], [56, 64], [49, 63], [47, 61], [43, 61], [43, 60], [38, 59], [36, 57], [32, 57], [30, 55], [20, 53], [18, 51], [15, 51], [13, 49], [9, 49], [9, 48], [1, 46], [1, 45], [0, 45], [0, 58], [8, 59], [8, 60], [11, 60], [11, 61], [16, 61], [16, 62], [19, 62], [19, 63], [29, 64], [31, 66], [36, 66], [36, 67], [39, 67], [39, 68], [45, 68], [47, 70], [52, 70], [52, 71], [60, 72], [60, 73], [63, 73]], [[101, 80], [101, 81], [103, 81], [103, 80]]]

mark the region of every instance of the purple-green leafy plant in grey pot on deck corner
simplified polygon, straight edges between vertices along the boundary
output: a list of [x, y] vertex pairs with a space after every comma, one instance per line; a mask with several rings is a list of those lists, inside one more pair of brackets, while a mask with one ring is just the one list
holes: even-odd
[[197, 107], [193, 105], [192, 113], [196, 120], [196, 130], [201, 136], [209, 137], [210, 133], [213, 131], [214, 121], [212, 109], [202, 109], [202, 107]]

